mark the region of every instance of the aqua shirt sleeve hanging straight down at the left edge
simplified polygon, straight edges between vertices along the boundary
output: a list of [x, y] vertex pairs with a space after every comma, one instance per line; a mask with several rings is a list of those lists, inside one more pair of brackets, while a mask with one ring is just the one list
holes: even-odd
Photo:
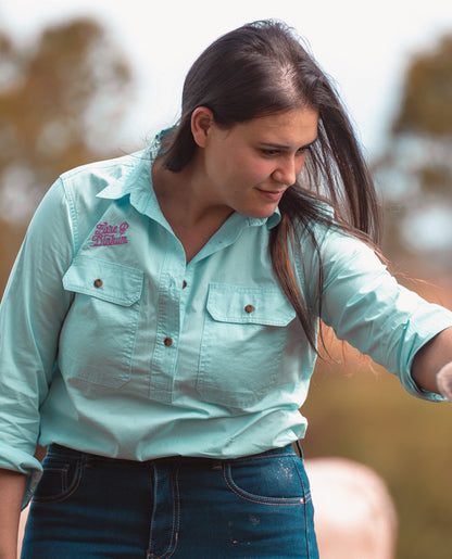
[[39, 409], [71, 303], [62, 276], [73, 251], [70, 206], [58, 181], [30, 223], [0, 306], [0, 467], [35, 478]]

